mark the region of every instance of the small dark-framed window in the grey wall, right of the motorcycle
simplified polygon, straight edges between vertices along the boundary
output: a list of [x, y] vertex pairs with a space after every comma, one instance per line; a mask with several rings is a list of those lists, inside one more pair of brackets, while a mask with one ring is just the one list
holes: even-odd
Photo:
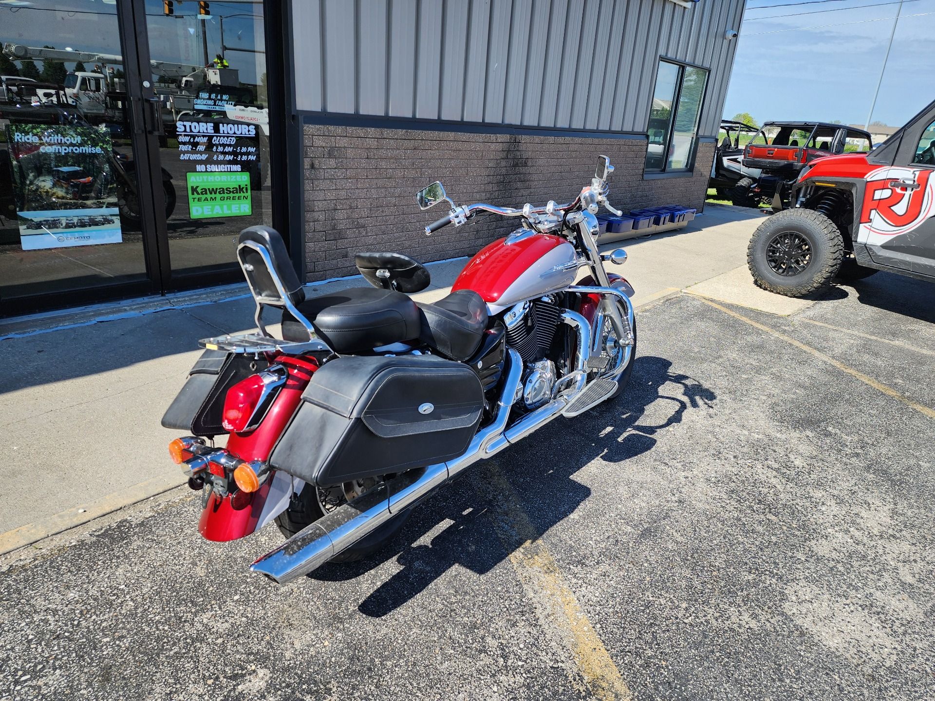
[[691, 170], [708, 71], [660, 61], [647, 133], [646, 170]]

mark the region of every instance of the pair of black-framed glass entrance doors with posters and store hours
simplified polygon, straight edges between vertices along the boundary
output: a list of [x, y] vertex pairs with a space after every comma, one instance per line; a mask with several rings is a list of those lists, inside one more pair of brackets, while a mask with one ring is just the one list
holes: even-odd
[[0, 2], [0, 316], [238, 279], [272, 223], [263, 8]]

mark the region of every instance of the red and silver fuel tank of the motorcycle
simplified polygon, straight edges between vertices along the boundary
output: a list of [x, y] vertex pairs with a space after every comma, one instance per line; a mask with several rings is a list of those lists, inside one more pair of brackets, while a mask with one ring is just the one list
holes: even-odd
[[473, 290], [496, 314], [524, 299], [568, 287], [577, 264], [574, 246], [561, 236], [521, 230], [480, 250], [452, 290]]

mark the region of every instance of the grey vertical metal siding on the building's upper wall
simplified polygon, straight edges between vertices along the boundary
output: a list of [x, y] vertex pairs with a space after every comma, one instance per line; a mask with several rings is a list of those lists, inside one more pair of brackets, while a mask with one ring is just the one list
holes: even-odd
[[709, 68], [717, 132], [743, 0], [294, 0], [302, 111], [645, 132], [658, 60]]

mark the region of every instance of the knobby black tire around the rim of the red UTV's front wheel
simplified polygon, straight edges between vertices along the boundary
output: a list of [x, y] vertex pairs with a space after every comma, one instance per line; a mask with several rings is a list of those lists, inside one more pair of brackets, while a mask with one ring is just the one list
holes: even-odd
[[[780, 275], [767, 262], [767, 249], [777, 236], [798, 234], [808, 243], [808, 265], [796, 275]], [[804, 297], [827, 287], [841, 269], [844, 240], [841, 230], [812, 209], [786, 209], [761, 223], [747, 247], [747, 265], [757, 287], [787, 297]]]

